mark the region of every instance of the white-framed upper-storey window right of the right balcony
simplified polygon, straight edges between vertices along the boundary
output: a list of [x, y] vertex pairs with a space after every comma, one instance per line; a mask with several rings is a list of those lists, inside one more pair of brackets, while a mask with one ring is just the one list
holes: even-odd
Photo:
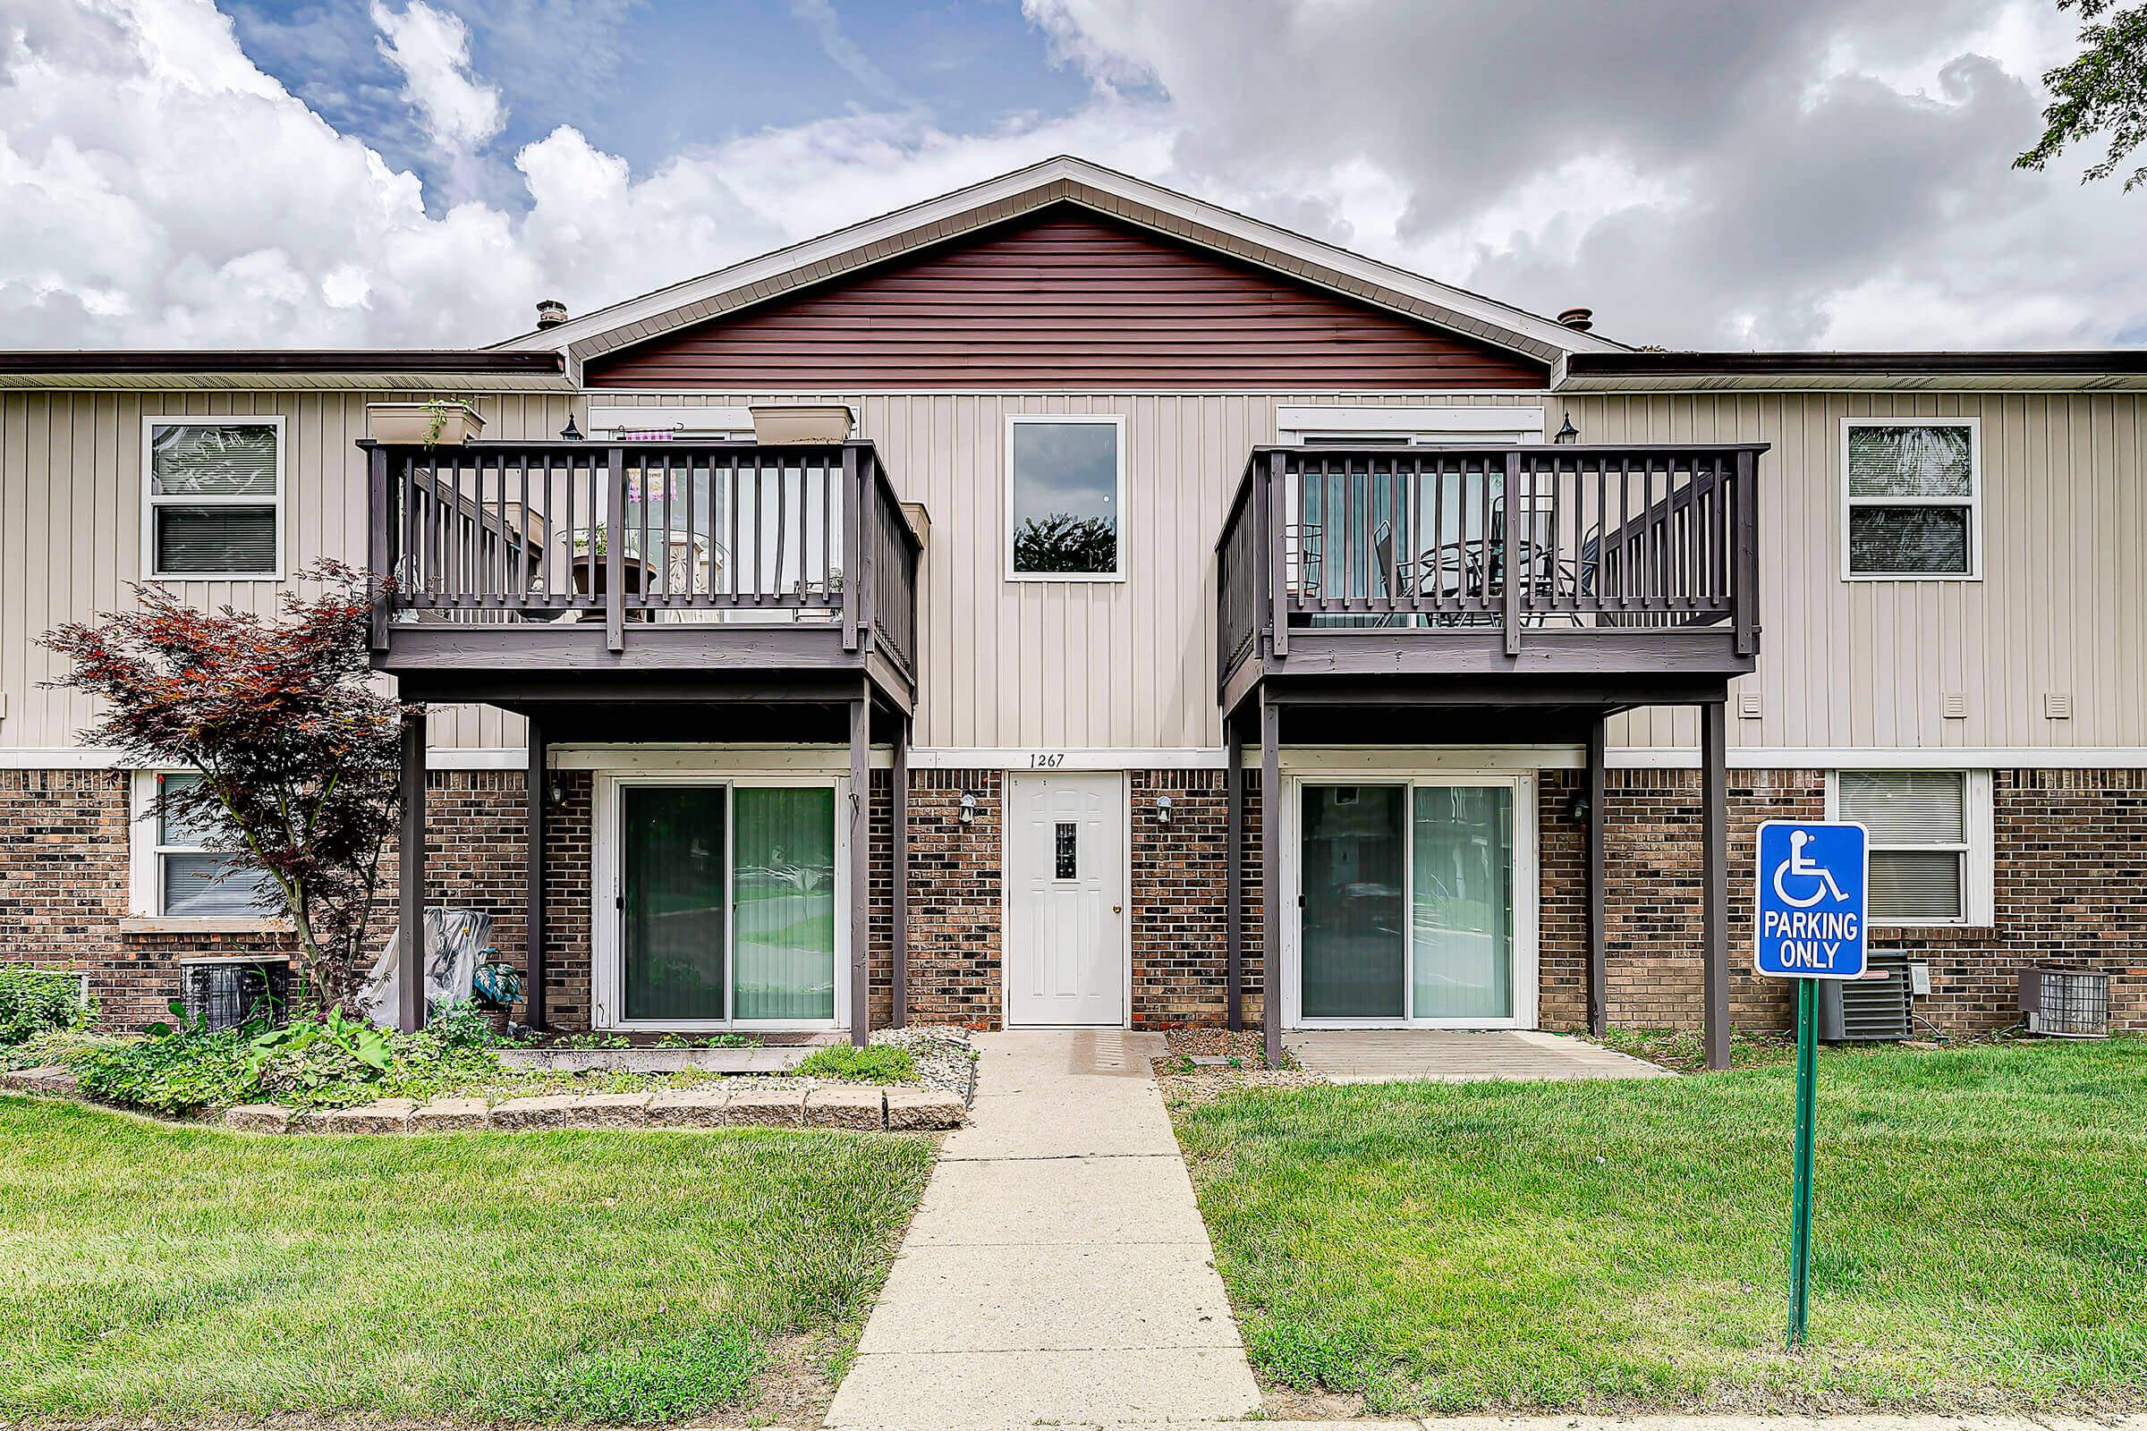
[[1842, 569], [1851, 579], [1982, 575], [1975, 418], [1842, 418]]

